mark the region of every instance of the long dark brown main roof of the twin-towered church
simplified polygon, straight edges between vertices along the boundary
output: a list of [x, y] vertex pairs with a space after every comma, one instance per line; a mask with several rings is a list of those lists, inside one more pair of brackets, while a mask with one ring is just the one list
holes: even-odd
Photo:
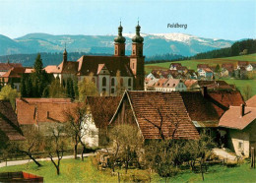
[[111, 76], [116, 76], [117, 71], [120, 71], [121, 76], [132, 77], [132, 71], [128, 64], [130, 58], [127, 56], [82, 56], [79, 60], [78, 72], [79, 75], [90, 75], [94, 73], [96, 75], [98, 65], [104, 64], [110, 72]]

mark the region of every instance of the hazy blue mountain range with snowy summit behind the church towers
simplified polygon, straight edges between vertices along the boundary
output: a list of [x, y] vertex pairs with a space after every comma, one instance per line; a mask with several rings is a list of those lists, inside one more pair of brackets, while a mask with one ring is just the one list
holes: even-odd
[[[180, 54], [191, 56], [200, 52], [229, 47], [233, 41], [204, 38], [184, 33], [141, 33], [144, 36], [144, 54]], [[126, 37], [126, 54], [131, 53], [131, 38], [134, 33], [123, 33]], [[0, 55], [36, 52], [62, 52], [66, 43], [68, 52], [113, 53], [116, 35], [51, 35], [31, 33], [10, 39], [0, 38]], [[0, 36], [1, 37], [1, 36]]]

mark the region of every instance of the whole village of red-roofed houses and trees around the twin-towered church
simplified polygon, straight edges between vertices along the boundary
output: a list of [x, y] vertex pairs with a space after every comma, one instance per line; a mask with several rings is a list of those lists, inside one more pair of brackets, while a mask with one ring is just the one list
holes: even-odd
[[40, 54], [33, 67], [0, 63], [0, 160], [29, 157], [41, 167], [38, 158], [49, 157], [58, 176], [65, 155], [84, 161], [91, 152], [98, 173], [109, 169], [118, 181], [125, 177], [120, 169], [166, 179], [186, 167], [204, 180], [211, 163], [251, 159], [255, 168], [256, 95], [245, 100], [222, 78], [245, 79], [256, 65], [200, 64], [194, 71], [173, 62], [169, 70], [145, 73], [139, 22], [129, 56], [122, 30], [120, 23], [112, 56], [70, 61], [65, 47], [59, 65], [43, 67]]

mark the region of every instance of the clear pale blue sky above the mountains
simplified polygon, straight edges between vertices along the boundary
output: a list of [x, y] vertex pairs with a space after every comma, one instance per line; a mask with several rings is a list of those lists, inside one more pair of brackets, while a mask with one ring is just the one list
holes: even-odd
[[[255, 0], [0, 0], [0, 34], [181, 32], [206, 38], [256, 38]], [[170, 24], [187, 25], [167, 28]]]

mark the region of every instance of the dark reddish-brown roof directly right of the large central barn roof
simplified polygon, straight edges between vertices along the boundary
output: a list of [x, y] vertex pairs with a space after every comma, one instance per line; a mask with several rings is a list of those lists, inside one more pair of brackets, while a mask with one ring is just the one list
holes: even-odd
[[230, 105], [244, 104], [239, 91], [208, 91], [206, 96], [201, 91], [183, 91], [180, 94], [192, 121], [218, 122]]

